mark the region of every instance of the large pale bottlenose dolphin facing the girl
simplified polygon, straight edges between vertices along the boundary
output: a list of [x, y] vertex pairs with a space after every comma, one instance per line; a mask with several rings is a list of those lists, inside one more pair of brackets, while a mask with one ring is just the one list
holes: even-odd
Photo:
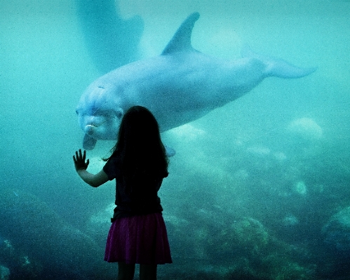
[[316, 69], [247, 48], [238, 60], [204, 55], [191, 46], [198, 18], [198, 13], [189, 15], [160, 56], [123, 65], [88, 86], [76, 107], [84, 149], [93, 149], [97, 140], [116, 140], [121, 118], [133, 105], [147, 107], [163, 132], [241, 97], [268, 76], [300, 78]]

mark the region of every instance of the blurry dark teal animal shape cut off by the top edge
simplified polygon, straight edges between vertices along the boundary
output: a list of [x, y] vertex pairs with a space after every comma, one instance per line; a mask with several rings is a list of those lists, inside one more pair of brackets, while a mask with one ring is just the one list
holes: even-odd
[[137, 60], [143, 20], [123, 20], [115, 0], [76, 0], [76, 13], [90, 58], [105, 74]]

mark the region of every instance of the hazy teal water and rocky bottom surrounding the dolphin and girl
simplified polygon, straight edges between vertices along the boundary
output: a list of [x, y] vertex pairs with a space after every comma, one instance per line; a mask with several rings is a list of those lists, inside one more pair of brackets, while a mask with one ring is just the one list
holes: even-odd
[[[162, 134], [172, 265], [159, 279], [350, 279], [350, 1], [1, 0], [0, 279], [115, 279], [103, 262], [114, 182], [72, 155], [97, 77], [159, 55], [190, 13], [192, 45], [300, 67]], [[113, 141], [99, 141], [89, 171]]]

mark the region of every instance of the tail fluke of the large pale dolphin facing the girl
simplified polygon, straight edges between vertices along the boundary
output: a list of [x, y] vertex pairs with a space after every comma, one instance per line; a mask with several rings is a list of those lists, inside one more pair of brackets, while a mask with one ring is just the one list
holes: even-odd
[[269, 58], [254, 53], [248, 45], [243, 46], [241, 55], [243, 58], [256, 58], [266, 65], [264, 76], [276, 76], [284, 79], [297, 79], [316, 71], [317, 67], [301, 68], [279, 58]]

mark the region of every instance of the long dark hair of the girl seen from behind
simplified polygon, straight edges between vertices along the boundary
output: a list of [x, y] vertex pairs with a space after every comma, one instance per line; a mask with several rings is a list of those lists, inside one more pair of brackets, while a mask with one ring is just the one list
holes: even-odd
[[168, 174], [168, 157], [158, 122], [145, 107], [133, 106], [124, 114], [112, 151], [112, 156], [120, 159], [124, 180]]

